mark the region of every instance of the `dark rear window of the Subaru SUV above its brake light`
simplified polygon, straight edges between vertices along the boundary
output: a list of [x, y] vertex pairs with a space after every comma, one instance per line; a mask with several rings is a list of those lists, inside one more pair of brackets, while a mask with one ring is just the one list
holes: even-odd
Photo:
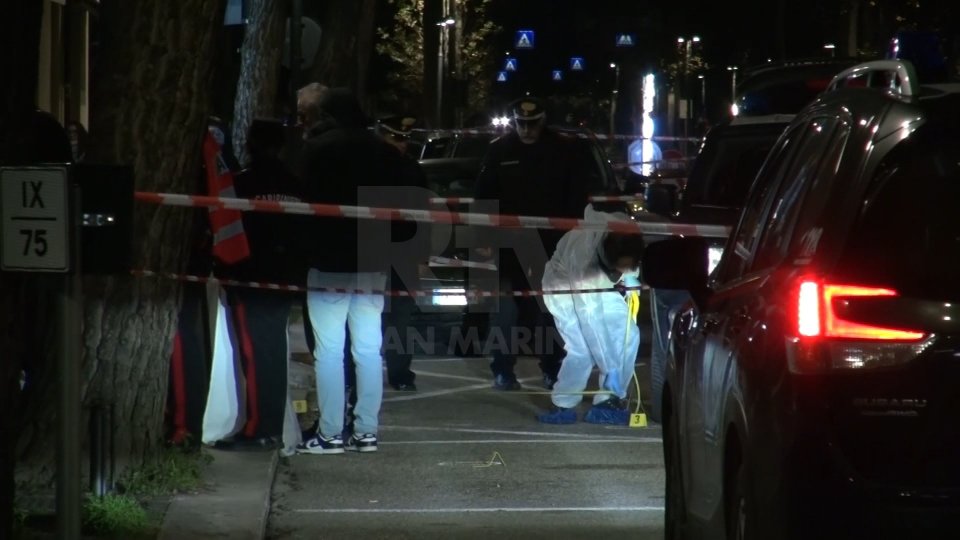
[[[949, 130], [949, 131], [948, 131]], [[960, 301], [960, 130], [924, 127], [884, 160], [841, 272], [905, 296]]]

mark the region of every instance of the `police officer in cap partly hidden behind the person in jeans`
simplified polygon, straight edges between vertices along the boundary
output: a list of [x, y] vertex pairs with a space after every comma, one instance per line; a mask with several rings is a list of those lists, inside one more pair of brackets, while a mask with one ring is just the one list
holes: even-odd
[[[410, 135], [415, 126], [417, 118], [412, 116], [391, 116], [381, 119], [377, 122], [377, 129], [385, 141], [394, 146], [403, 154], [401, 176], [403, 183], [410, 187], [420, 188], [423, 195], [426, 195], [427, 177], [424, 175], [420, 164], [408, 153], [408, 143]], [[411, 193], [416, 197], [416, 193]], [[421, 200], [422, 199], [422, 200]], [[398, 201], [400, 202], [400, 201]], [[415, 208], [426, 208], [428, 201], [426, 197], [418, 200], [406, 201], [406, 205]], [[418, 224], [418, 227], [424, 227], [425, 224]], [[395, 232], [396, 229], [395, 229]], [[415, 291], [420, 287], [420, 267], [417, 263], [423, 263], [429, 256], [430, 235], [429, 231], [419, 229], [414, 240], [416, 253], [412, 257], [404, 257], [402, 260], [394, 262], [394, 268], [390, 271], [390, 289], [394, 291]], [[394, 236], [394, 240], [405, 242], [410, 238], [404, 235]], [[409, 235], [405, 235], [409, 236]], [[384, 335], [385, 339], [384, 356], [387, 364], [387, 382], [394, 390], [401, 392], [415, 392], [416, 374], [410, 369], [413, 362], [413, 351], [410, 346], [413, 340], [409, 339], [412, 330], [411, 320], [413, 314], [417, 311], [416, 300], [410, 296], [391, 296], [388, 305], [383, 312]]]

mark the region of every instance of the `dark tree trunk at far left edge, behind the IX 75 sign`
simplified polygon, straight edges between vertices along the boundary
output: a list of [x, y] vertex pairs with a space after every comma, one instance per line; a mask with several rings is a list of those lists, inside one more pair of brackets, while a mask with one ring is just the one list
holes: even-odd
[[[15, 157], [18, 113], [34, 108], [43, 4], [14, 2], [0, 17], [0, 164]], [[13, 536], [15, 448], [20, 416], [20, 370], [27, 354], [28, 276], [0, 276], [0, 538]]]

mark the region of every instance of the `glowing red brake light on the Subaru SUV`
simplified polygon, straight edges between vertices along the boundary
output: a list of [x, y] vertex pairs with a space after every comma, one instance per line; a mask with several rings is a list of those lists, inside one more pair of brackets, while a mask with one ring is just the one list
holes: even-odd
[[916, 341], [924, 337], [922, 332], [848, 321], [837, 316], [834, 310], [833, 302], [838, 298], [897, 296], [891, 289], [804, 280], [797, 296], [797, 331], [802, 337], [878, 341]]

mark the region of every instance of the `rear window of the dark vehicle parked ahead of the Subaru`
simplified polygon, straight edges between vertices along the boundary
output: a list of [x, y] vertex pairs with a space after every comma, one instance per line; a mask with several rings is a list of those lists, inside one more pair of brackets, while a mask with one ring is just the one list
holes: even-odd
[[786, 124], [721, 128], [697, 156], [684, 204], [739, 208]]

